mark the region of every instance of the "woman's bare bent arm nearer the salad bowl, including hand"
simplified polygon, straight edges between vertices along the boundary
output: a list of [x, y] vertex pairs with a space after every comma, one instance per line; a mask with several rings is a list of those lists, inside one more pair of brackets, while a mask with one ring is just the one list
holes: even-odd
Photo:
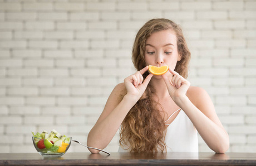
[[[104, 149], [110, 143], [125, 116], [139, 100], [147, 84], [149, 84], [152, 74], [148, 75], [144, 81], [142, 77], [142, 74], [147, 69], [148, 66], [130, 75], [124, 80], [124, 83], [115, 87], [106, 102], [99, 120], [97, 120], [95, 126], [93, 126], [88, 134], [87, 146]], [[124, 96], [124, 98], [120, 101], [121, 96]], [[92, 153], [99, 152], [90, 148], [89, 151]]]

